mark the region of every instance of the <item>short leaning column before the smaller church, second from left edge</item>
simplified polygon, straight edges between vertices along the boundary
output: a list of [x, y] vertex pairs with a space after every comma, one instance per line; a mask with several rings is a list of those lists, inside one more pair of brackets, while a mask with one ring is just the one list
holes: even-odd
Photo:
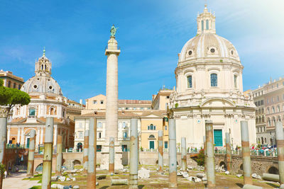
[[33, 176], [33, 162], [35, 158], [35, 130], [30, 132], [30, 147], [28, 147], [28, 171], [27, 176]]

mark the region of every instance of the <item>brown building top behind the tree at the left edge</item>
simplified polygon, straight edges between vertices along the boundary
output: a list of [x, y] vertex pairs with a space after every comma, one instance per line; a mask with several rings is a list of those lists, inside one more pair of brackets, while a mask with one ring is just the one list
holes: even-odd
[[3, 71], [3, 69], [0, 70], [0, 79], [3, 79], [4, 86], [9, 88], [21, 89], [24, 83], [23, 78], [13, 75], [11, 71]]

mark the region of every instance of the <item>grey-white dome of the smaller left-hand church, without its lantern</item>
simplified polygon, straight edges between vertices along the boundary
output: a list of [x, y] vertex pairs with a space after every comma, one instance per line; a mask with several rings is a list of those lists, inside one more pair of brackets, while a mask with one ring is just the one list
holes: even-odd
[[21, 91], [30, 93], [53, 93], [62, 96], [61, 88], [51, 76], [33, 76], [23, 84]]

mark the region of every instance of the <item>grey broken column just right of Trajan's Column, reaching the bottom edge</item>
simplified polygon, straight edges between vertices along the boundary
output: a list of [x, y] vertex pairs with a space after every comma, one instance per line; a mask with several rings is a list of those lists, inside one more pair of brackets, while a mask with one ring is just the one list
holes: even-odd
[[138, 188], [138, 120], [132, 118], [130, 125], [129, 188]]

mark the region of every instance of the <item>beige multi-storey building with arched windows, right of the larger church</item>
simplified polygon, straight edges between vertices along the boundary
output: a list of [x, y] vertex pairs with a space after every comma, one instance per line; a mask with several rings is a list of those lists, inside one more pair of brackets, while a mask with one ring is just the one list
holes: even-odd
[[271, 80], [253, 90], [257, 106], [256, 132], [259, 144], [275, 144], [275, 123], [284, 119], [284, 79]]

